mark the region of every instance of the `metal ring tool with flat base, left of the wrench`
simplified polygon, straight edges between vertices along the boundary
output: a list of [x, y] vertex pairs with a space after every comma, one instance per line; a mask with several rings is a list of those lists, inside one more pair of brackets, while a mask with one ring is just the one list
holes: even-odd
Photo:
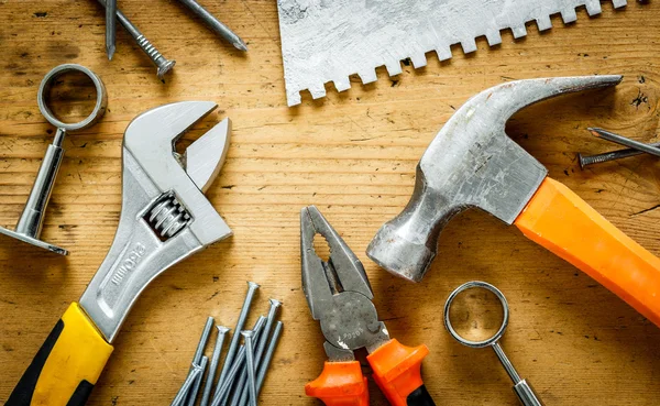
[[[48, 91], [51, 90], [55, 79], [62, 74], [68, 72], [80, 72], [88, 76], [94, 83], [97, 94], [94, 111], [85, 120], [76, 123], [65, 123], [58, 120], [48, 108], [46, 100]], [[28, 198], [25, 208], [21, 213], [21, 218], [16, 223], [15, 230], [12, 231], [0, 227], [0, 233], [50, 250], [61, 255], [67, 255], [67, 250], [38, 239], [43, 227], [46, 206], [48, 204], [48, 199], [51, 198], [51, 193], [53, 191], [53, 185], [57, 178], [62, 158], [64, 157], [64, 149], [62, 147], [62, 143], [68, 131], [86, 129], [96, 123], [103, 116], [106, 112], [106, 105], [108, 102], [108, 95], [106, 94], [106, 87], [103, 86], [103, 83], [94, 72], [89, 70], [85, 66], [65, 64], [53, 68], [46, 74], [38, 88], [36, 101], [42, 114], [51, 124], [57, 128], [57, 131], [55, 132], [55, 139], [53, 140], [53, 143], [48, 145], [46, 150], [46, 154], [44, 155], [42, 164], [38, 168], [36, 179], [34, 180], [34, 185], [30, 191], [30, 197]]]

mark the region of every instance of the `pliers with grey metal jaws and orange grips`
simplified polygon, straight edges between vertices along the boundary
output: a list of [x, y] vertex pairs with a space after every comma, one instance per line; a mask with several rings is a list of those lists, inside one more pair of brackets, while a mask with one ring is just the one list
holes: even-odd
[[[328, 261], [314, 249], [316, 234], [328, 242]], [[405, 347], [389, 338], [372, 303], [364, 266], [314, 206], [300, 211], [300, 261], [302, 290], [311, 317], [321, 323], [328, 355], [323, 372], [305, 386], [305, 393], [328, 406], [369, 405], [366, 377], [353, 353], [365, 348], [374, 381], [391, 404], [435, 406], [420, 374], [428, 348]]]

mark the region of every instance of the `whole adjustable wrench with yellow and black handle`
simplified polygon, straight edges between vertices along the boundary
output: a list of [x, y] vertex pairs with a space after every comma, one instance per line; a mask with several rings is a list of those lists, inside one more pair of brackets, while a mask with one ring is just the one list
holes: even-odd
[[114, 241], [82, 294], [57, 322], [8, 406], [84, 405], [112, 341], [142, 290], [172, 265], [231, 235], [204, 191], [229, 145], [223, 120], [179, 155], [175, 142], [216, 109], [209, 101], [165, 105], [135, 118], [123, 139], [122, 211]]

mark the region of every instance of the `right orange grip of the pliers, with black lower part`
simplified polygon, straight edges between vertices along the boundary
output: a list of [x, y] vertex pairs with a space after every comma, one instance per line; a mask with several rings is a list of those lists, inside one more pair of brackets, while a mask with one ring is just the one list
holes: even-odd
[[426, 345], [411, 348], [393, 339], [366, 356], [374, 381], [392, 405], [407, 406], [408, 395], [424, 385], [420, 369], [428, 353]]

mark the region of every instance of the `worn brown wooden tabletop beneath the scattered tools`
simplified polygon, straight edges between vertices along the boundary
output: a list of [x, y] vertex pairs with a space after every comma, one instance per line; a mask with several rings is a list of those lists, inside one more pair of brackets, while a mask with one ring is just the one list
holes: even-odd
[[[140, 112], [178, 100], [213, 100], [231, 118], [232, 143], [208, 197], [234, 235], [174, 266], [142, 295], [114, 342], [90, 405], [167, 405], [188, 371], [207, 316], [233, 326], [246, 290], [262, 285], [251, 320], [267, 298], [284, 301], [283, 341], [262, 405], [320, 405], [306, 382], [326, 355], [300, 289], [298, 213], [317, 205], [363, 261], [381, 318], [393, 337], [426, 343], [424, 376], [438, 405], [516, 405], [490, 350], [454, 342], [442, 326], [447, 295], [471, 279], [498, 286], [510, 303], [503, 345], [548, 405], [658, 405], [660, 330], [573, 266], [492, 217], [470, 211], [440, 240], [420, 284], [380, 270], [364, 251], [378, 227], [408, 201], [415, 166], [437, 131], [474, 94], [513, 79], [624, 74], [616, 89], [551, 100], [517, 114], [508, 133], [550, 171], [652, 253], [660, 253], [660, 164], [648, 156], [581, 171], [576, 152], [613, 145], [587, 134], [600, 125], [642, 141], [658, 135], [660, 8], [629, 1], [614, 11], [450, 62], [429, 57], [396, 78], [287, 108], [274, 0], [202, 1], [249, 44], [242, 55], [176, 1], [122, 0], [121, 9], [167, 56], [161, 81], [118, 29], [105, 54], [105, 21], [95, 1], [0, 0], [0, 224], [13, 227], [53, 129], [36, 92], [54, 66], [78, 63], [102, 78], [108, 112], [69, 135], [43, 239], [72, 251], [48, 254], [9, 238], [0, 249], [0, 402], [48, 331], [84, 292], [112, 241], [120, 213], [121, 140]], [[87, 95], [89, 96], [89, 95]], [[191, 140], [201, 131], [187, 135]], [[363, 362], [365, 371], [367, 364]], [[371, 382], [372, 405], [385, 405]]]

